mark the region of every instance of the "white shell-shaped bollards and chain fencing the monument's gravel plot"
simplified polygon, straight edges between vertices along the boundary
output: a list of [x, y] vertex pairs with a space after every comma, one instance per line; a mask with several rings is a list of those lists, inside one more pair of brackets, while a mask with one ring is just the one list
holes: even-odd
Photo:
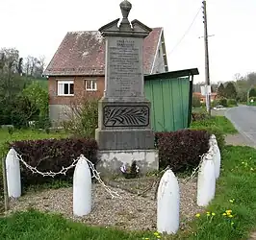
[[[201, 156], [201, 162], [192, 173], [197, 177], [197, 204], [207, 206], [214, 198], [216, 192], [216, 180], [220, 170], [220, 152], [215, 135], [209, 140], [209, 151]], [[57, 173], [42, 173], [36, 167], [27, 164], [22, 156], [11, 149], [4, 160], [5, 180], [5, 206], [8, 210], [10, 197], [21, 196], [20, 162], [33, 173], [54, 178], [57, 175], [65, 174], [69, 169], [75, 167], [73, 175], [73, 214], [85, 216], [91, 211], [91, 179], [95, 178], [108, 191], [112, 198], [121, 198], [115, 191], [112, 191], [101, 179], [94, 165], [85, 156], [81, 155], [74, 159], [72, 164]], [[91, 171], [90, 171], [91, 169]], [[191, 178], [192, 178], [191, 177]], [[157, 190], [157, 230], [161, 233], [175, 234], [179, 229], [180, 221], [180, 195], [179, 183], [170, 169], [167, 169], [161, 178]]]

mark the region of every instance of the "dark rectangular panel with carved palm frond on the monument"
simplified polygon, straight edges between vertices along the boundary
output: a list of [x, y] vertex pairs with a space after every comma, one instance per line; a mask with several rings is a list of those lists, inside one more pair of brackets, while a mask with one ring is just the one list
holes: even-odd
[[147, 106], [106, 106], [103, 109], [105, 127], [147, 127], [149, 108]]

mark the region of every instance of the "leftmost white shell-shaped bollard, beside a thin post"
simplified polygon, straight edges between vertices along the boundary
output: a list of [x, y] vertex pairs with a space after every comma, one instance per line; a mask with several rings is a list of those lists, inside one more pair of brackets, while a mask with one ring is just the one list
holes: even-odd
[[13, 148], [6, 156], [6, 178], [9, 198], [19, 198], [21, 196], [20, 165]]

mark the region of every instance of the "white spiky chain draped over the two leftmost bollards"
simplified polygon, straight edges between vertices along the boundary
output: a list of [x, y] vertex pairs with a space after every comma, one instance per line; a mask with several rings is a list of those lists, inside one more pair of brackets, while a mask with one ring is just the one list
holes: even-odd
[[[80, 157], [83, 157], [83, 155], [77, 157], [76, 159], [73, 159], [73, 162], [71, 163], [70, 166], [68, 167], [63, 167], [63, 169], [57, 173], [54, 173], [52, 171], [49, 171], [49, 172], [46, 172], [46, 173], [43, 173], [41, 171], [38, 171], [37, 167], [32, 167], [31, 165], [29, 165], [26, 161], [23, 160], [22, 156], [19, 155], [18, 153], [16, 153], [18, 159], [29, 169], [31, 170], [31, 172], [33, 174], [38, 174], [38, 175], [41, 175], [42, 177], [52, 177], [54, 178], [55, 176], [57, 175], [65, 175], [66, 172], [72, 168], [74, 168], [78, 162], [78, 160], [80, 159]], [[84, 156], [85, 157], [85, 156]], [[89, 164], [89, 167], [91, 169], [91, 172], [92, 172], [92, 175], [91, 175], [91, 178], [94, 178], [96, 179], [104, 188], [105, 190], [112, 196], [112, 199], [114, 198], [120, 198], [121, 199], [121, 196], [116, 193], [115, 191], [112, 191], [105, 183], [103, 180], [101, 180], [100, 178], [100, 174], [97, 172], [97, 170], [95, 169], [94, 167], [94, 164], [85, 157], [85, 159], [87, 160], [88, 164]]]

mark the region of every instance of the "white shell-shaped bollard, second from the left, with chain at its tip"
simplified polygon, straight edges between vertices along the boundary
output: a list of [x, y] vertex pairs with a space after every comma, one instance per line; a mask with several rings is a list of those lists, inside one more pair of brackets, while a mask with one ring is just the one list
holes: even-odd
[[85, 156], [80, 156], [73, 177], [73, 213], [82, 217], [91, 211], [91, 175]]

